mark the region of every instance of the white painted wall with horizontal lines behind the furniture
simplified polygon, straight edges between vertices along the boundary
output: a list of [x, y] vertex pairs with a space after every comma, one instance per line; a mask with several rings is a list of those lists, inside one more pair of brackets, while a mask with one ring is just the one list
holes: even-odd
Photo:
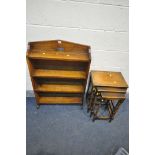
[[[91, 46], [91, 69], [128, 81], [128, 0], [27, 0], [27, 42], [62, 39]], [[27, 90], [32, 90], [27, 70]]]

